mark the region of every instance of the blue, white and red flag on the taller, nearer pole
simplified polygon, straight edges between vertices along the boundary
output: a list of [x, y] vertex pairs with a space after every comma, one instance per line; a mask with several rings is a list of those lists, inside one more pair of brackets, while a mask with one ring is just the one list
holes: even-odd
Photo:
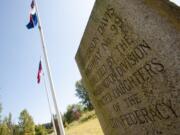
[[32, 0], [31, 2], [31, 11], [30, 11], [30, 19], [29, 23], [26, 25], [28, 29], [34, 28], [38, 23], [37, 15], [36, 15], [36, 7], [35, 2]]

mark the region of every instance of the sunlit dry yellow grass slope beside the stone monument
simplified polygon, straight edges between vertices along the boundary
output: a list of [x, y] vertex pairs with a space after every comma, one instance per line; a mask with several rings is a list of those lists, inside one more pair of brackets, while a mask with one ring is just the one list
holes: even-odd
[[83, 114], [79, 121], [71, 123], [65, 130], [67, 135], [103, 135], [94, 111]]

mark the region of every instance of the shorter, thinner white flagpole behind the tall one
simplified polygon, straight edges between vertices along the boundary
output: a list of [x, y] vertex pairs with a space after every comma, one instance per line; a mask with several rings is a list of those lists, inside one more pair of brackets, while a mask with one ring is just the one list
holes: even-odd
[[46, 96], [47, 96], [47, 99], [48, 99], [49, 111], [50, 111], [50, 114], [51, 114], [51, 119], [52, 119], [52, 124], [53, 124], [53, 128], [54, 128], [54, 133], [55, 133], [55, 135], [57, 135], [56, 125], [55, 125], [54, 117], [53, 117], [52, 110], [51, 110], [49, 94], [48, 94], [48, 90], [47, 90], [47, 85], [46, 85], [46, 80], [45, 80], [45, 77], [44, 77], [44, 73], [43, 73], [43, 80], [44, 80], [44, 87], [45, 87], [45, 90], [46, 90]]

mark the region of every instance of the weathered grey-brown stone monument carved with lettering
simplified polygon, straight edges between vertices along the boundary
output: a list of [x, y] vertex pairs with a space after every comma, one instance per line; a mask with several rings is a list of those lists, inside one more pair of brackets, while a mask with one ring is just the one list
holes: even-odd
[[76, 61], [105, 135], [180, 134], [180, 9], [96, 0]]

